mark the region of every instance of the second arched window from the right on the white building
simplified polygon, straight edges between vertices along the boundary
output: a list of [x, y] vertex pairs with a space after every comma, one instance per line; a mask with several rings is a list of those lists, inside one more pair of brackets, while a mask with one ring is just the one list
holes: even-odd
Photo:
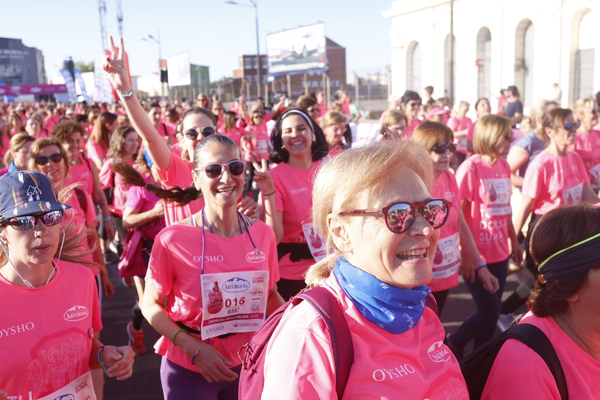
[[533, 105], [533, 23], [524, 19], [515, 34], [515, 85], [526, 107]]

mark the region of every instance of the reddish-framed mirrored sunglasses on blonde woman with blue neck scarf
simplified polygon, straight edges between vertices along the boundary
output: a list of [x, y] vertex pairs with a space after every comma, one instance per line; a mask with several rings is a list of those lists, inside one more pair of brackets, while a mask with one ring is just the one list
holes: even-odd
[[448, 219], [451, 207], [452, 202], [446, 199], [430, 199], [414, 203], [398, 201], [383, 208], [343, 211], [338, 215], [383, 214], [388, 229], [399, 234], [413, 225], [416, 211], [430, 223], [433, 229], [441, 228]]

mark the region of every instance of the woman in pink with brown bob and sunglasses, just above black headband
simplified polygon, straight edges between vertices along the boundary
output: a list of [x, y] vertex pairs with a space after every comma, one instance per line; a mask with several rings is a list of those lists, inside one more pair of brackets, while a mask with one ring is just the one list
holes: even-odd
[[547, 112], [542, 120], [542, 130], [550, 138], [550, 144], [527, 166], [521, 188], [521, 208], [515, 219], [515, 229], [520, 232], [533, 212], [527, 228], [524, 267], [529, 268], [534, 276], [538, 272], [529, 252], [529, 241], [541, 217], [563, 204], [600, 202], [590, 186], [583, 160], [567, 150], [575, 141], [577, 130], [571, 110], [557, 108]]

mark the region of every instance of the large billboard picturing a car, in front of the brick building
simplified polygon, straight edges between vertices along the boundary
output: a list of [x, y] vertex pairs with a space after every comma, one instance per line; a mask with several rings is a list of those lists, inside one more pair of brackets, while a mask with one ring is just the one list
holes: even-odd
[[266, 51], [271, 75], [325, 71], [325, 23], [269, 34]]

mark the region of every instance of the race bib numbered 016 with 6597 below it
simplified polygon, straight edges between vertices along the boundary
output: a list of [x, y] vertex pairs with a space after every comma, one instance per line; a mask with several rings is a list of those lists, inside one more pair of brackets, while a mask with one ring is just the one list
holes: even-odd
[[269, 271], [202, 274], [202, 340], [256, 332], [265, 321]]

